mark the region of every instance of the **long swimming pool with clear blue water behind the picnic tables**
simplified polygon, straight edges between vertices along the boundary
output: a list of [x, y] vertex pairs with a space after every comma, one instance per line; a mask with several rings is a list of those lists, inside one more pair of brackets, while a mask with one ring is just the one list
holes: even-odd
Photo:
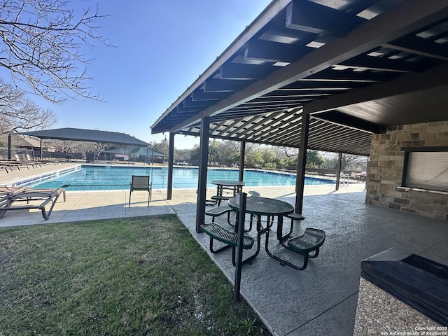
[[[197, 188], [197, 168], [174, 168], [173, 188]], [[154, 189], [167, 188], [167, 167], [123, 167], [81, 165], [58, 174], [47, 174], [32, 181], [21, 181], [18, 186], [31, 188], [65, 188], [71, 190], [123, 190], [129, 189], [132, 175], [151, 176]], [[207, 187], [214, 188], [214, 180], [238, 180], [237, 169], [207, 169]], [[244, 171], [246, 186], [294, 186], [295, 175], [262, 170]], [[305, 184], [328, 184], [332, 181], [316, 178], [305, 179]]]

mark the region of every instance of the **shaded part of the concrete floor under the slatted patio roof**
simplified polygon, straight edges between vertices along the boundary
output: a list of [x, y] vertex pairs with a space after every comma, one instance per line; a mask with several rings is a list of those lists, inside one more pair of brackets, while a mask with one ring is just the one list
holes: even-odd
[[[279, 191], [266, 188], [260, 194], [294, 204], [294, 193]], [[209, 236], [195, 232], [195, 204], [191, 204], [190, 213], [185, 206], [182, 211], [172, 207], [209, 253]], [[359, 188], [353, 192], [347, 189], [306, 195], [303, 209], [306, 219], [300, 224], [296, 222], [292, 237], [310, 227], [326, 232], [320, 255], [310, 260], [307, 269], [297, 271], [282, 266], [269, 258], [264, 248], [251, 264], [242, 268], [241, 293], [274, 335], [353, 335], [360, 262], [388, 248], [448, 264], [446, 221], [365, 204], [365, 191]], [[225, 226], [226, 216], [216, 221]], [[285, 225], [288, 228], [288, 220]], [[300, 255], [282, 251], [274, 237], [270, 235], [269, 249], [275, 254], [302, 260]], [[231, 253], [228, 249], [209, 255], [233, 283], [235, 267]]]

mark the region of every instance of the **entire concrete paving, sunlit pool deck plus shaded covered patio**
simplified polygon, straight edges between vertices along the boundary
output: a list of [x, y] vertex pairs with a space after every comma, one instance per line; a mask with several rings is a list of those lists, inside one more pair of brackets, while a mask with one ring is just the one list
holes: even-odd
[[[0, 184], [9, 185], [25, 176], [65, 169], [69, 165], [75, 164], [46, 165], [10, 174], [2, 172]], [[294, 187], [244, 188], [245, 192], [251, 190], [263, 197], [295, 202]], [[209, 195], [213, 192], [210, 189]], [[153, 190], [150, 207], [146, 207], [147, 194], [135, 192], [130, 208], [127, 190], [66, 194], [66, 202], [58, 200], [48, 221], [37, 210], [9, 211], [0, 218], [0, 227], [176, 214], [209, 253], [209, 236], [195, 232], [197, 195], [194, 189], [173, 190], [172, 200], [166, 200], [166, 190]], [[448, 264], [447, 221], [365, 204], [362, 183], [338, 191], [334, 186], [306, 186], [304, 194], [306, 219], [300, 224], [296, 222], [293, 237], [300, 235], [304, 228], [325, 230], [325, 244], [318, 258], [311, 259], [303, 271], [282, 266], [266, 255], [263, 238], [260, 254], [242, 270], [241, 293], [273, 335], [353, 335], [360, 262], [388, 248]], [[226, 216], [217, 221], [226, 225]], [[286, 221], [286, 228], [288, 225]], [[271, 251], [293, 262], [302, 261], [300, 255], [283, 251], [274, 237], [274, 234], [270, 237]], [[235, 267], [230, 249], [209, 255], [233, 283]]]

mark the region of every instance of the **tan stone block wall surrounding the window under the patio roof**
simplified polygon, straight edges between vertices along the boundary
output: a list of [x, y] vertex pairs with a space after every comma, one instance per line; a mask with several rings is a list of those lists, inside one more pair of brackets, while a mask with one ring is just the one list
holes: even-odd
[[367, 204], [448, 219], [448, 193], [401, 186], [405, 152], [400, 148], [421, 146], [448, 146], [448, 121], [388, 127], [386, 134], [374, 134], [367, 166]]

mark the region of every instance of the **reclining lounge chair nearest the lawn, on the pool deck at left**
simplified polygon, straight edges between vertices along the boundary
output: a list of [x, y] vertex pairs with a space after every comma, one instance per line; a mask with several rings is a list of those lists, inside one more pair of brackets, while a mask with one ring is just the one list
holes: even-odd
[[[8, 187], [11, 188], [11, 187]], [[7, 193], [8, 190], [5, 190]], [[5, 216], [6, 211], [9, 210], [28, 210], [39, 209], [42, 211], [42, 216], [45, 220], [50, 218], [51, 211], [55, 207], [56, 201], [60, 195], [64, 195], [65, 202], [65, 189], [31, 189], [31, 188], [18, 188], [12, 190], [9, 195], [5, 195], [3, 199], [0, 198], [0, 218]], [[17, 202], [27, 202], [26, 205], [16, 205]], [[48, 211], [45, 209], [47, 204], [50, 205]]]

